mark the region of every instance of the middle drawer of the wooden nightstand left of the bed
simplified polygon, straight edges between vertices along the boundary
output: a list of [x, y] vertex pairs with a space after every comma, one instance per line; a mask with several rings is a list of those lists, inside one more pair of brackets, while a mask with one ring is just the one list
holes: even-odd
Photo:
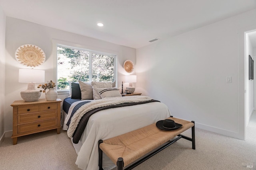
[[31, 114], [21, 114], [21, 115], [18, 115], [18, 124], [28, 123], [32, 121], [41, 121], [45, 119], [54, 119], [56, 117], [57, 117], [57, 110], [31, 113]]

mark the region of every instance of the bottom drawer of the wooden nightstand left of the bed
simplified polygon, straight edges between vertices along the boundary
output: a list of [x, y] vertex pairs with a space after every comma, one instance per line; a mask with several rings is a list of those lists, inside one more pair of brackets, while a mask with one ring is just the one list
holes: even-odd
[[57, 126], [57, 119], [35, 122], [35, 123], [27, 123], [27, 124], [23, 124], [23, 125], [18, 125], [18, 133], [37, 131], [39, 129], [44, 129], [47, 127], [54, 127], [54, 126]]

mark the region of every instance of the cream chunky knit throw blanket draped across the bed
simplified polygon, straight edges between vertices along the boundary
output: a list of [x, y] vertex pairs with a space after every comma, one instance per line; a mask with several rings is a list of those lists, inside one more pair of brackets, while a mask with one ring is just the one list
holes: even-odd
[[76, 127], [78, 126], [80, 119], [83, 117], [85, 113], [87, 113], [90, 110], [93, 110], [99, 107], [104, 107], [104, 106], [118, 105], [118, 104], [124, 104], [124, 103], [146, 102], [150, 100], [152, 100], [152, 98], [148, 96], [126, 96], [126, 97], [115, 97], [115, 98], [103, 98], [100, 100], [96, 100], [94, 102], [89, 102], [87, 104], [84, 104], [76, 111], [76, 113], [71, 118], [71, 122], [67, 132], [68, 137], [71, 138], [73, 136], [73, 133], [76, 130]]

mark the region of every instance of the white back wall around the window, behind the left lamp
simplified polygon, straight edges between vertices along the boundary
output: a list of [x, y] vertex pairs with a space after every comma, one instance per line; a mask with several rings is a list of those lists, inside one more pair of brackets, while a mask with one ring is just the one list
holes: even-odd
[[[117, 55], [118, 66], [118, 86], [121, 86], [122, 76], [124, 74], [123, 63], [125, 60], [134, 61], [136, 59], [136, 50], [130, 47], [124, 47], [106, 41], [100, 41], [90, 37], [53, 29], [31, 23], [15, 18], [6, 18], [6, 108], [5, 108], [5, 131], [12, 130], [12, 107], [10, 104], [14, 100], [22, 100], [20, 92], [26, 90], [26, 83], [18, 82], [19, 68], [27, 68], [19, 64], [15, 59], [15, 51], [24, 44], [33, 44], [40, 47], [46, 54], [46, 61], [36, 67], [37, 69], [45, 70], [45, 81], [52, 80], [56, 76], [53, 72], [53, 59], [52, 55], [52, 39], [65, 41], [71, 44], [80, 45], [86, 49], [95, 51], [114, 53]], [[64, 99], [67, 95], [58, 95], [59, 98]], [[45, 98], [42, 94], [41, 98]]]

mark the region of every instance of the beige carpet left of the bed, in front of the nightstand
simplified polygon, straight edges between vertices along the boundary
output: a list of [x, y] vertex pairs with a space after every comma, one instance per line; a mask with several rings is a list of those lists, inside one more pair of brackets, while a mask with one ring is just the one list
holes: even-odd
[[0, 170], [79, 170], [76, 151], [66, 131], [56, 130], [6, 138], [0, 146]]

